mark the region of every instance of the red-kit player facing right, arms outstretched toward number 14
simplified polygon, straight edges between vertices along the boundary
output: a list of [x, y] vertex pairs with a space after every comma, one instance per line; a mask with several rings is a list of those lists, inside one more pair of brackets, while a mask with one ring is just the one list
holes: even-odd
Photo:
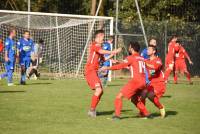
[[88, 111], [88, 116], [90, 117], [96, 117], [96, 106], [103, 94], [102, 84], [98, 77], [100, 59], [103, 58], [104, 54], [110, 54], [110, 56], [107, 57], [107, 59], [109, 59], [121, 51], [121, 48], [114, 51], [103, 50], [101, 47], [103, 41], [104, 31], [97, 30], [95, 32], [95, 40], [91, 43], [89, 57], [85, 66], [85, 79], [89, 87], [94, 90], [90, 110]]

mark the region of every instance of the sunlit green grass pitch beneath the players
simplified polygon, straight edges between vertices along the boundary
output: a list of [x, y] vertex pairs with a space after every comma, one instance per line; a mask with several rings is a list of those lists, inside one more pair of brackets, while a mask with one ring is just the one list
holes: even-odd
[[87, 117], [92, 92], [83, 80], [37, 80], [26, 86], [0, 82], [1, 134], [200, 134], [200, 83], [168, 84], [162, 102], [167, 117], [151, 103], [154, 119], [136, 118], [137, 110], [124, 100], [120, 121], [111, 121], [113, 101], [127, 80], [105, 89], [97, 118]]

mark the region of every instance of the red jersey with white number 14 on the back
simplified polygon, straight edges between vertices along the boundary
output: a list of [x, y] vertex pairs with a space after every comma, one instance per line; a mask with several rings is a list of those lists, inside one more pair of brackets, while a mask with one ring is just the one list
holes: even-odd
[[114, 65], [111, 70], [119, 70], [122, 68], [127, 68], [129, 66], [131, 77], [137, 80], [145, 80], [145, 62], [144, 58], [138, 53], [132, 54], [124, 60], [124, 63]]

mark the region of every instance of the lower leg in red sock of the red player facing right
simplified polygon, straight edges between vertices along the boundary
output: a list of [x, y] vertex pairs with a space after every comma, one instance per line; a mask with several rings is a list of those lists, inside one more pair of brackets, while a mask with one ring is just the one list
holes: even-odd
[[95, 89], [95, 92], [92, 96], [90, 110], [88, 111], [88, 116], [96, 117], [96, 107], [97, 107], [102, 95], [103, 95], [102, 87], [97, 86]]

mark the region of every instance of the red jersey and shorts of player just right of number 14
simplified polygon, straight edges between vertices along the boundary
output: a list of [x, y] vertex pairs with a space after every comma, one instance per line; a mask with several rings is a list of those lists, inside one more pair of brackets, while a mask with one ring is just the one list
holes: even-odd
[[149, 74], [150, 84], [147, 86], [149, 91], [154, 91], [155, 95], [160, 98], [166, 90], [164, 73], [162, 72], [162, 61], [156, 57], [153, 60], [146, 60], [146, 67]]

